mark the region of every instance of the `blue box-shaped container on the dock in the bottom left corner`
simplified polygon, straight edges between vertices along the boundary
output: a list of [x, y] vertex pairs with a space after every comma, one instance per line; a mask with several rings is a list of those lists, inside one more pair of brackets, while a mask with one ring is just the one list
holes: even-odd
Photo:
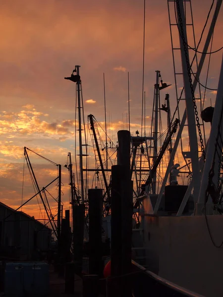
[[7, 262], [4, 294], [9, 297], [49, 295], [49, 265], [42, 262]]

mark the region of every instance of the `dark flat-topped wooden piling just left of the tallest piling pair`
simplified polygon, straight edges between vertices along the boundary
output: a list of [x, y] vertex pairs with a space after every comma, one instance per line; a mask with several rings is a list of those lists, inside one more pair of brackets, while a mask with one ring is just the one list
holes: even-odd
[[89, 189], [89, 274], [103, 275], [102, 215], [103, 190]]

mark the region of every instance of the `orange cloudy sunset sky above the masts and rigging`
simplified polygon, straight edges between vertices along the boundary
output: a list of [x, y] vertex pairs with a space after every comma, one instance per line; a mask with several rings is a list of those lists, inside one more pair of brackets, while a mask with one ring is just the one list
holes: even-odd
[[[198, 41], [212, 1], [202, 1], [202, 13], [200, 0], [191, 2]], [[65, 209], [69, 207], [68, 170], [63, 165], [67, 162], [67, 152], [74, 157], [75, 85], [64, 77], [70, 76], [75, 65], [81, 66], [86, 123], [87, 115], [93, 114], [105, 128], [105, 73], [108, 135], [116, 144], [117, 131], [126, 129], [129, 72], [131, 135], [141, 129], [143, 8], [143, 0], [0, 2], [1, 202], [16, 208], [35, 194], [24, 163], [23, 148], [27, 147], [62, 164], [62, 201]], [[174, 11], [170, 12], [172, 15]], [[214, 33], [214, 50], [222, 47], [222, 32], [221, 10]], [[177, 32], [173, 32], [173, 36], [177, 45]], [[192, 45], [191, 32], [188, 36], [188, 43]], [[217, 89], [221, 59], [222, 52], [211, 56], [209, 88]], [[180, 67], [179, 56], [176, 65]], [[171, 84], [168, 93], [172, 113], [176, 106], [166, 0], [146, 0], [144, 70], [146, 130], [149, 133], [156, 70], [161, 71], [164, 82]], [[203, 84], [206, 75], [207, 63], [201, 74]], [[182, 82], [177, 85], [178, 91], [180, 88]], [[161, 93], [161, 101], [165, 99], [165, 92]], [[201, 94], [203, 97], [204, 89]], [[214, 104], [215, 97], [216, 91], [208, 90], [204, 108], [211, 102]], [[184, 102], [180, 104], [182, 111]], [[186, 133], [184, 138], [188, 143]], [[28, 154], [42, 189], [56, 178], [57, 166], [31, 151]], [[49, 188], [54, 198], [56, 187], [54, 183]], [[54, 199], [49, 199], [56, 212]], [[39, 203], [40, 199], [34, 198], [22, 210], [35, 218], [44, 217], [43, 206]]]

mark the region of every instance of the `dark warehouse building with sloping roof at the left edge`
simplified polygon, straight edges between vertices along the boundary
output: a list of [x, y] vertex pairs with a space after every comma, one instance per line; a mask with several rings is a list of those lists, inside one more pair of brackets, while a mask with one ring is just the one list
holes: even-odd
[[51, 248], [52, 230], [0, 202], [0, 259], [39, 260]]

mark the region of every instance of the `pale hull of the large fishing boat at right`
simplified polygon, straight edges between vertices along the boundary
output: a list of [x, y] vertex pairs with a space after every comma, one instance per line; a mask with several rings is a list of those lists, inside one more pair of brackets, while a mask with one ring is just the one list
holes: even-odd
[[[142, 214], [143, 242], [149, 270], [206, 297], [223, 296], [223, 247], [212, 243], [202, 216]], [[208, 215], [216, 245], [223, 241], [223, 216]]]

